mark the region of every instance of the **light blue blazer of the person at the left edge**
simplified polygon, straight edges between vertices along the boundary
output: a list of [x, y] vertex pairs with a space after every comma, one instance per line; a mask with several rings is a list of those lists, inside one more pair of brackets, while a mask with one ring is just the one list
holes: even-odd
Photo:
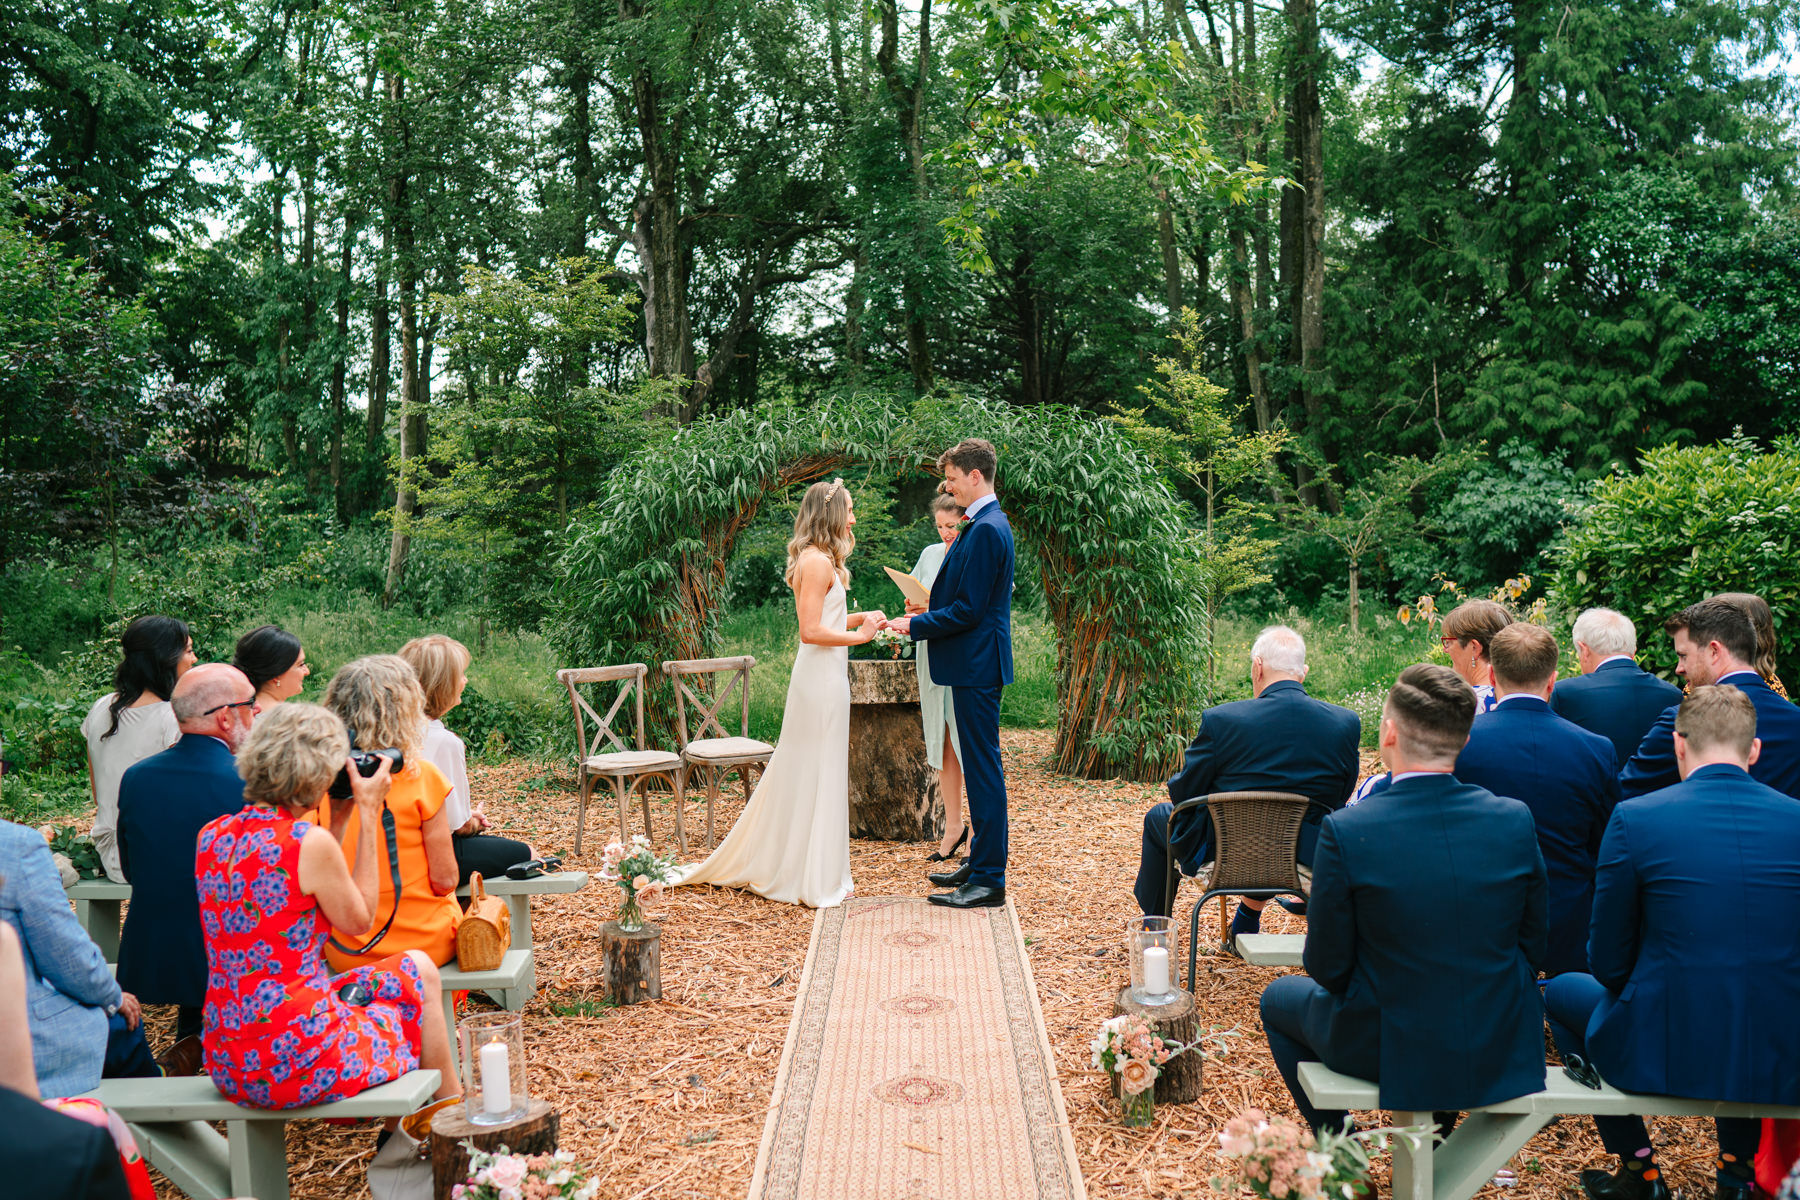
[[36, 829], [0, 820], [0, 918], [25, 955], [25, 1006], [38, 1090], [49, 1099], [101, 1085], [108, 1009], [119, 984], [76, 921], [50, 846]]

